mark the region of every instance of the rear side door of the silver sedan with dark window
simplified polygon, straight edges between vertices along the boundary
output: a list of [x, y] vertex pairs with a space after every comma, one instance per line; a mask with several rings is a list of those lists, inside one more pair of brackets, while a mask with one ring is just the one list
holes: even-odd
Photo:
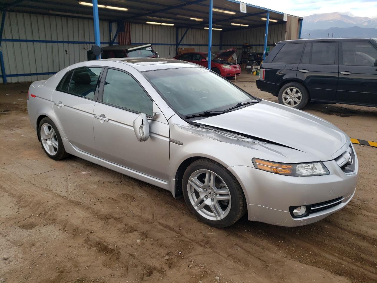
[[52, 93], [57, 122], [69, 142], [81, 151], [95, 152], [93, 109], [103, 68], [83, 67], [67, 72]]

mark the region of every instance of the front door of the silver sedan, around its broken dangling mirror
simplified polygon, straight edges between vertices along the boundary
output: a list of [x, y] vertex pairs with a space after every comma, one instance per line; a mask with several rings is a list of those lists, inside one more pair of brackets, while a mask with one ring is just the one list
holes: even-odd
[[169, 125], [166, 119], [148, 121], [150, 137], [147, 141], [138, 141], [132, 126], [140, 112], [151, 117], [153, 107], [152, 99], [130, 73], [107, 69], [98, 102], [94, 106], [96, 155], [167, 181]]

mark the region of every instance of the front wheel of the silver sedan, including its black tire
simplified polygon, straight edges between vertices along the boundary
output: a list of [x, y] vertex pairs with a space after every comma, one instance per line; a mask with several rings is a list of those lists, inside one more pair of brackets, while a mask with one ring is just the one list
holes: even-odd
[[207, 225], [227, 227], [246, 212], [241, 185], [213, 160], [201, 158], [190, 164], [182, 178], [182, 190], [187, 206]]

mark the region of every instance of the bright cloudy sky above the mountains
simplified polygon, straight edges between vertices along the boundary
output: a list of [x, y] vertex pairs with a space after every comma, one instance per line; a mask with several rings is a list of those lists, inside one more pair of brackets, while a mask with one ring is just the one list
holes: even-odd
[[377, 18], [377, 0], [240, 0], [256, 6], [305, 17], [313, 14], [340, 14]]

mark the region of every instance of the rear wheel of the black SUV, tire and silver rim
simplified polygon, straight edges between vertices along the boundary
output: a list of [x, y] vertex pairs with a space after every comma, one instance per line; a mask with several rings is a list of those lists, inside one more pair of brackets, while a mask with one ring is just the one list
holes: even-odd
[[302, 109], [309, 101], [307, 89], [300, 83], [287, 83], [279, 91], [279, 103]]

